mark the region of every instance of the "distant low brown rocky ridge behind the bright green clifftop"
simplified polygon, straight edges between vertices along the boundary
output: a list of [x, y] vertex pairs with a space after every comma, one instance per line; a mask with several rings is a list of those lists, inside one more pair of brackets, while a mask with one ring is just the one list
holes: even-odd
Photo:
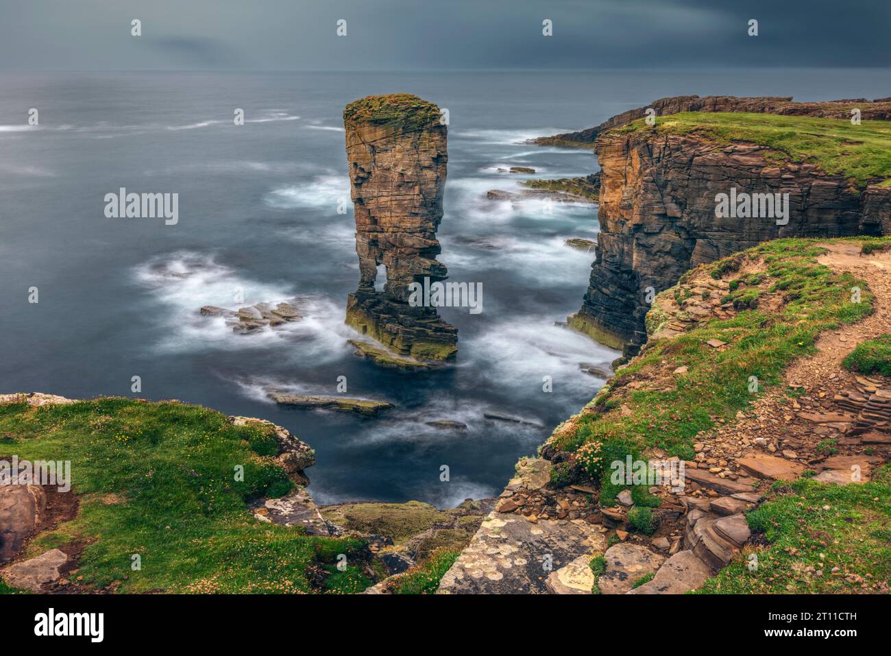
[[683, 111], [745, 111], [758, 114], [782, 114], [787, 116], [814, 116], [832, 119], [849, 119], [851, 109], [862, 111], [862, 120], [891, 119], [891, 98], [880, 98], [869, 101], [865, 98], [836, 100], [828, 102], [793, 102], [792, 96], [756, 96], [738, 97], [735, 95], [675, 95], [670, 98], [659, 98], [646, 107], [624, 111], [611, 119], [603, 121], [599, 126], [589, 127], [578, 132], [562, 135], [543, 136], [535, 139], [541, 145], [560, 144], [590, 147], [597, 137], [613, 127], [625, 126], [634, 120], [642, 119], [648, 109], [656, 112], [656, 116], [679, 114]]

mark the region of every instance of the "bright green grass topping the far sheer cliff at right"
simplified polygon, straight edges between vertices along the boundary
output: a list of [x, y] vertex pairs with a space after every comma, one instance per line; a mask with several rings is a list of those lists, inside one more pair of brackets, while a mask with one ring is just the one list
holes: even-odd
[[[852, 108], [855, 103], [852, 104]], [[864, 120], [853, 126], [848, 119], [816, 119], [734, 112], [685, 112], [659, 117], [655, 127], [643, 119], [620, 131], [650, 130], [658, 134], [702, 135], [719, 144], [757, 143], [774, 149], [769, 156], [811, 162], [824, 171], [850, 178], [865, 186], [871, 180], [891, 177], [891, 123]]]

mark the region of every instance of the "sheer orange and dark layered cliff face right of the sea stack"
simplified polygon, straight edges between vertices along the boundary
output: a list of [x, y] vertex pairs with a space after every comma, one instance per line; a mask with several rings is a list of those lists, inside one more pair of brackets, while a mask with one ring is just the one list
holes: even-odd
[[[778, 164], [762, 146], [721, 147], [697, 135], [613, 131], [599, 137], [595, 151], [602, 168], [601, 233], [583, 306], [569, 322], [631, 353], [646, 340], [648, 287], [665, 290], [692, 266], [758, 242], [883, 234], [891, 228], [891, 188], [862, 191], [811, 164]], [[715, 194], [732, 187], [789, 193], [789, 223], [716, 217]]]

